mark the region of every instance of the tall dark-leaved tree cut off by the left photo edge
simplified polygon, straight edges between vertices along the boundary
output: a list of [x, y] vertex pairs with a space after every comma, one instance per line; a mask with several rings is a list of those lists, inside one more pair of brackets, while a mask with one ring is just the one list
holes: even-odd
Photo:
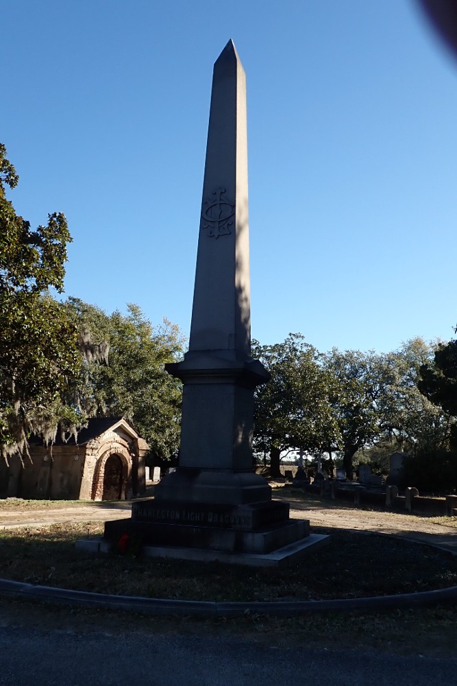
[[73, 412], [60, 395], [77, 374], [77, 332], [47, 294], [62, 292], [71, 235], [62, 213], [32, 230], [6, 198], [18, 175], [0, 144], [0, 448], [5, 459], [27, 447], [27, 434], [51, 440]]

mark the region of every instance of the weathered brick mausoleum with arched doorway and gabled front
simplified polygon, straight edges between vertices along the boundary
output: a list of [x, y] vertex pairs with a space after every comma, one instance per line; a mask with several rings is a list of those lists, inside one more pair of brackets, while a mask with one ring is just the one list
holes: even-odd
[[75, 438], [30, 442], [32, 460], [0, 464], [0, 497], [125, 500], [145, 495], [147, 442], [121, 417], [94, 418]]

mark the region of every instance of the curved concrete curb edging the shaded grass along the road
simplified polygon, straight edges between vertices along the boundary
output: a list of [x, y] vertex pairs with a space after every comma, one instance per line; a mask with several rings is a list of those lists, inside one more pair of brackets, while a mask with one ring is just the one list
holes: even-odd
[[414, 608], [457, 602], [457, 586], [437, 591], [421, 591], [402, 595], [381, 595], [375, 598], [345, 598], [342, 600], [296, 600], [275, 602], [204, 602], [199, 600], [164, 600], [133, 595], [108, 595], [71, 591], [47, 586], [34, 586], [21, 581], [0, 579], [0, 595], [21, 600], [38, 600], [50, 604], [71, 604], [110, 610], [125, 610], [147, 615], [179, 615], [203, 617], [234, 617], [239, 615], [271, 615], [297, 617], [306, 613], [384, 611], [391, 608]]

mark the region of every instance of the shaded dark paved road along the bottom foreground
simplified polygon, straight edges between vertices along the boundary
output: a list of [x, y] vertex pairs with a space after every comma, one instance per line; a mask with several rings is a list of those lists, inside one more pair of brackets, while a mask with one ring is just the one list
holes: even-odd
[[0, 627], [1, 686], [430, 686], [456, 683], [457, 659], [272, 648], [189, 635]]

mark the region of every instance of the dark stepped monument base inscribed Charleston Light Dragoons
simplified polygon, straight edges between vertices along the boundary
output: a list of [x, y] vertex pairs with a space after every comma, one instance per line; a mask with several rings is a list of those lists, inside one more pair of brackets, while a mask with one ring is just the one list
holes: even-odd
[[288, 514], [288, 503], [282, 501], [232, 505], [151, 498], [132, 505], [131, 519], [107, 521], [104, 540], [115, 547], [126, 534], [144, 554], [160, 557], [215, 560], [223, 554], [238, 563], [245, 555], [276, 559], [285, 547], [293, 545], [295, 552], [309, 547], [309, 520], [289, 519]]

